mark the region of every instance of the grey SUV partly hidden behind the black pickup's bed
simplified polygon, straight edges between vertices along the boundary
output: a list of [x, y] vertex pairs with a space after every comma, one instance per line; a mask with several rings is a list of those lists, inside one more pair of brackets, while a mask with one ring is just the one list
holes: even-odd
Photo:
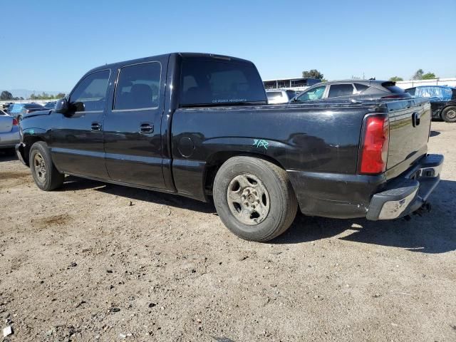
[[380, 98], [410, 98], [405, 90], [395, 86], [395, 82], [376, 80], [347, 80], [318, 83], [300, 93], [291, 102], [316, 100], [378, 100]]

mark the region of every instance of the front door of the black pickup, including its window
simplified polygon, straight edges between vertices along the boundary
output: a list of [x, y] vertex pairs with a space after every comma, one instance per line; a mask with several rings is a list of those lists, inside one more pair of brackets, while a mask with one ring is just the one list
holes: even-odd
[[51, 154], [58, 170], [107, 178], [103, 150], [103, 115], [110, 70], [84, 76], [71, 92], [69, 110], [52, 129]]

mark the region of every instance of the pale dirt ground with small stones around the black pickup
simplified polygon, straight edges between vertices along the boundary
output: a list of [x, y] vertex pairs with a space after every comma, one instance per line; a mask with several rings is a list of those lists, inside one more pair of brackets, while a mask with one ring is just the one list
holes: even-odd
[[266, 244], [192, 199], [75, 177], [42, 192], [0, 156], [4, 340], [456, 341], [455, 145], [432, 123], [429, 214], [299, 214]]

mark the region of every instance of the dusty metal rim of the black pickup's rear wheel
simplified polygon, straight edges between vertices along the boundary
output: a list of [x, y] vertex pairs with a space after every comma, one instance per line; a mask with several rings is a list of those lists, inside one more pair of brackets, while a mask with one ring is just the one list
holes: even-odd
[[254, 175], [234, 177], [229, 182], [227, 200], [234, 217], [244, 224], [259, 224], [269, 213], [269, 192]]

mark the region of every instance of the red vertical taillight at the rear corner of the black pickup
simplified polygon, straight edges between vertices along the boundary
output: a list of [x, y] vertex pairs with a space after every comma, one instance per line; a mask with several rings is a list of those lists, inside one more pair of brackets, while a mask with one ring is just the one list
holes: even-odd
[[390, 138], [388, 117], [371, 116], [366, 119], [364, 129], [359, 171], [368, 174], [385, 172]]

